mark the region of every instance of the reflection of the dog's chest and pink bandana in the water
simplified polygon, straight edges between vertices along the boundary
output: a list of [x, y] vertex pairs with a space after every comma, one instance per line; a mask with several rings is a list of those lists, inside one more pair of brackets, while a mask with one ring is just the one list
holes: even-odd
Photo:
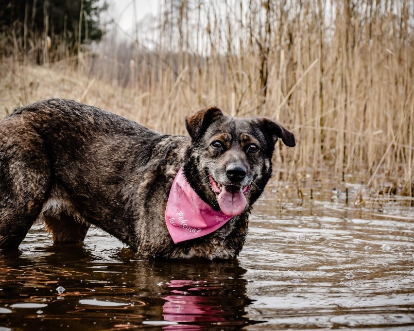
[[[152, 270], [162, 263], [157, 261]], [[165, 262], [159, 270], [172, 279], [162, 285], [162, 318], [176, 322], [165, 330], [203, 330], [208, 325], [242, 327], [257, 323], [249, 320], [246, 307], [252, 300], [246, 296], [246, 270], [238, 261], [191, 265]], [[155, 275], [154, 275], [155, 276]], [[185, 276], [185, 277], [183, 277]], [[156, 277], [155, 277], [156, 279]]]

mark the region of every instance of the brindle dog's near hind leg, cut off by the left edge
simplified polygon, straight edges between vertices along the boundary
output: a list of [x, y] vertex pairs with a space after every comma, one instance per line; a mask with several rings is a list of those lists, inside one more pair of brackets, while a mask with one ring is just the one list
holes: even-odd
[[0, 249], [15, 249], [40, 213], [51, 167], [43, 141], [18, 116], [0, 123]]

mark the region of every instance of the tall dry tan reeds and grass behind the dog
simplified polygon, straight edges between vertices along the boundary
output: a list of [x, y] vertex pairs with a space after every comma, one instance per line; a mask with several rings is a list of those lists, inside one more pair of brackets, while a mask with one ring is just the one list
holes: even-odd
[[414, 196], [412, 1], [160, 2], [150, 32], [138, 25], [130, 40], [110, 34], [79, 54], [52, 36], [40, 67], [23, 36], [3, 35], [1, 111], [69, 97], [183, 134], [185, 114], [215, 104], [293, 130], [297, 147], [276, 151], [278, 178], [328, 169]]

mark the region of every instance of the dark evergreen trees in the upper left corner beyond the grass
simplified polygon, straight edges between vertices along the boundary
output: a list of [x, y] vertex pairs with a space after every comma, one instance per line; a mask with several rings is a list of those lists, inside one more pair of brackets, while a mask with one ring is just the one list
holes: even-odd
[[[107, 9], [106, 2], [99, 3], [99, 0], [2, 0], [1, 2], [3, 4], [0, 5], [0, 33], [13, 39], [15, 48], [32, 53], [37, 51], [38, 55], [34, 56], [37, 63], [45, 60], [42, 51], [45, 44], [53, 50], [60, 48], [61, 52], [53, 52], [53, 54], [65, 57], [76, 53], [79, 45], [100, 40], [104, 34], [100, 15]], [[10, 51], [2, 48], [1, 55], [8, 56]]]

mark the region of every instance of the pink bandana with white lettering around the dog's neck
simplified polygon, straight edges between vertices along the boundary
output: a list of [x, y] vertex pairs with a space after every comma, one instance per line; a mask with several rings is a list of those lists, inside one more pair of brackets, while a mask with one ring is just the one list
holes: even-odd
[[183, 169], [178, 171], [165, 209], [165, 222], [174, 244], [205, 236], [232, 217], [212, 209], [191, 188]]

